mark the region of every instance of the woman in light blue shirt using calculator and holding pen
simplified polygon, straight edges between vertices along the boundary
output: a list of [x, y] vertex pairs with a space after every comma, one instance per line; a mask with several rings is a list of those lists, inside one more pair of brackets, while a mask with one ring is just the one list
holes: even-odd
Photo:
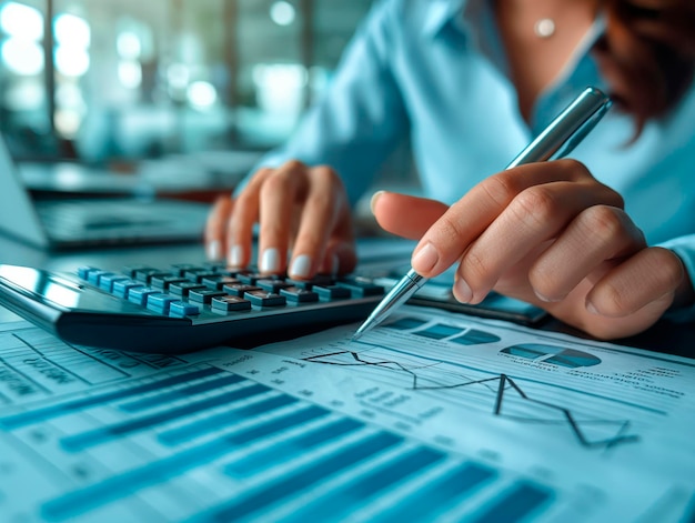
[[[457, 300], [494, 289], [604, 339], [689, 318], [694, 57], [689, 0], [382, 1], [290, 143], [215, 204], [209, 254], [249, 263], [258, 221], [261, 270], [351, 271], [350, 207], [407, 135], [427, 198], [372, 209], [420, 239], [420, 274], [459, 264]], [[617, 110], [575, 160], [500, 172], [590, 84]]]

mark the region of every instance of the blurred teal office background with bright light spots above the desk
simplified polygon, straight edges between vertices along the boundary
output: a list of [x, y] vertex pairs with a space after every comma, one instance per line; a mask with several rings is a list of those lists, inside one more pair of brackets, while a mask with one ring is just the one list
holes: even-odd
[[0, 132], [19, 160], [266, 150], [371, 3], [0, 0]]

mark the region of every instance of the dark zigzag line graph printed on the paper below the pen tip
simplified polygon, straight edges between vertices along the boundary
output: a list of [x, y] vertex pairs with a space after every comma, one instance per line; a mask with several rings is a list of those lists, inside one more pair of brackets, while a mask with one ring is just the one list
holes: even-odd
[[[395, 359], [367, 358], [364, 353], [350, 350], [312, 354], [303, 358], [306, 362], [335, 365], [373, 368], [400, 374], [406, 380], [406, 389], [413, 391], [452, 391], [466, 392], [475, 388], [492, 400], [491, 413], [520, 423], [567, 426], [577, 442], [586, 449], [608, 449], [638, 441], [629, 433], [631, 422], [626, 419], [591, 418], [581, 415], [560, 401], [546, 401], [527, 393], [513, 378], [498, 373], [484, 378], [471, 378], [461, 373], [442, 373], [425, 376], [423, 371], [433, 370], [440, 363], [405, 364]], [[446, 378], [451, 381], [446, 382]], [[552, 414], [552, 415], [548, 415]], [[608, 433], [602, 437], [591, 437], [590, 428], [601, 428]]]

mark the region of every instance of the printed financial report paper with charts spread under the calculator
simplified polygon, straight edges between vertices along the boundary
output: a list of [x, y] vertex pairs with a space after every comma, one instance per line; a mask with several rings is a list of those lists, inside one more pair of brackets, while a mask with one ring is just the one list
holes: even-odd
[[148, 355], [0, 325], [0, 520], [691, 521], [692, 360], [431, 309]]

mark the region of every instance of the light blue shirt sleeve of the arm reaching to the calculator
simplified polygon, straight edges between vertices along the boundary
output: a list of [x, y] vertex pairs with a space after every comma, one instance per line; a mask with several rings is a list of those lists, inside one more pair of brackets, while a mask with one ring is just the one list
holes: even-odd
[[[354, 204], [387, 155], [409, 133], [409, 122], [390, 60], [402, 30], [397, 2], [377, 2], [343, 53], [330, 86], [291, 139], [258, 168], [290, 159], [330, 165]], [[236, 191], [243, 188], [243, 182]]]

